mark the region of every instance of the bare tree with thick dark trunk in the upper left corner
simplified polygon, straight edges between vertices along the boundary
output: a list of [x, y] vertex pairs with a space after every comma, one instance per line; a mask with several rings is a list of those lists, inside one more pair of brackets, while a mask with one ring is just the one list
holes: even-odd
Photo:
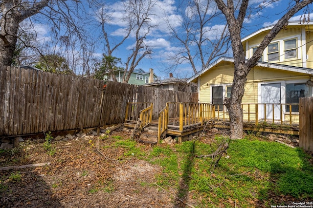
[[[1, 1], [0, 65], [34, 63], [36, 57], [60, 54], [73, 72], [84, 74], [94, 54], [85, 5], [78, 0]], [[48, 28], [48, 41], [36, 41], [39, 24]]]

